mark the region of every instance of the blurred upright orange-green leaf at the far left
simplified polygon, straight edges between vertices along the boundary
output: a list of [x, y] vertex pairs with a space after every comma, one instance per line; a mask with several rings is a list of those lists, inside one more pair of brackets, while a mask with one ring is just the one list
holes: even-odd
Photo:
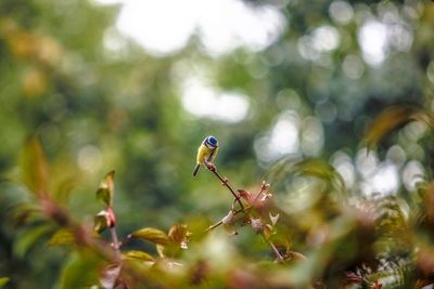
[[48, 165], [40, 142], [31, 137], [24, 146], [21, 157], [23, 181], [37, 196], [48, 191]]

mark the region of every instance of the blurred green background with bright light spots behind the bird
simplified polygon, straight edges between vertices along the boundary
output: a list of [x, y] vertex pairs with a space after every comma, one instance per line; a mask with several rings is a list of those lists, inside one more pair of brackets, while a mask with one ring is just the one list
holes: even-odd
[[[400, 194], [431, 175], [426, 126], [407, 124], [378, 154], [359, 143], [391, 105], [432, 110], [432, 1], [222, 1], [209, 22], [239, 29], [225, 49], [225, 35], [206, 30], [212, 12], [175, 2], [167, 15], [142, 12], [162, 13], [168, 28], [142, 27], [162, 38], [182, 23], [170, 15], [202, 15], [173, 49], [123, 34], [126, 24], [141, 28], [137, 15], [123, 14], [133, 1], [0, 2], [0, 275], [13, 278], [11, 288], [52, 287], [65, 257], [33, 242], [43, 232], [28, 237], [11, 222], [12, 208], [31, 201], [18, 169], [29, 136], [40, 139], [50, 163], [49, 189], [77, 220], [91, 222], [98, 184], [116, 171], [120, 235], [225, 214], [230, 196], [214, 176], [191, 176], [208, 134], [220, 143], [219, 171], [240, 188], [257, 187], [286, 156], [321, 157], [356, 195]], [[252, 29], [263, 38], [242, 37]], [[289, 186], [273, 186], [282, 201], [293, 197]]]

